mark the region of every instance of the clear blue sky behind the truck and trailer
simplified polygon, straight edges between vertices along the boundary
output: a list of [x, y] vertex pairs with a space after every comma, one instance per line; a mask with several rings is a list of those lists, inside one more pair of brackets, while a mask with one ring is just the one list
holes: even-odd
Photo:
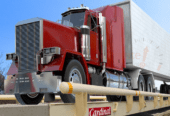
[[[11, 61], [5, 60], [6, 53], [15, 52], [15, 24], [19, 21], [41, 17], [51, 21], [61, 19], [61, 13], [68, 7], [84, 4], [90, 9], [124, 0], [0, 0], [0, 52], [5, 67]], [[133, 0], [144, 12], [170, 33], [169, 0]]]

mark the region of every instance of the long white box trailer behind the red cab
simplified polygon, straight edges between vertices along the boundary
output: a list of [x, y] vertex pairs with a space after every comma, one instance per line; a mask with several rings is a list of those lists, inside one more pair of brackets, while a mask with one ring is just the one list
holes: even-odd
[[133, 89], [138, 76], [170, 81], [170, 34], [161, 28], [132, 0], [111, 4], [124, 11], [126, 70], [130, 71]]

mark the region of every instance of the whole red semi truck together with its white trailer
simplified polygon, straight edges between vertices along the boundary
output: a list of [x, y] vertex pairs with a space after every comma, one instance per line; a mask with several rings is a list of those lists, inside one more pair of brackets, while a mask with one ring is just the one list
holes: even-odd
[[[21, 104], [38, 104], [44, 95], [45, 101], [53, 101], [56, 94], [74, 103], [74, 94], [60, 92], [62, 81], [154, 92], [154, 79], [170, 79], [164, 60], [155, 57], [162, 48], [154, 29], [165, 36], [132, 1], [94, 10], [68, 8], [61, 24], [42, 18], [18, 22], [15, 53], [7, 54], [18, 68], [15, 96]], [[167, 93], [167, 87], [162, 85], [161, 91]], [[107, 96], [108, 101], [121, 99]]]

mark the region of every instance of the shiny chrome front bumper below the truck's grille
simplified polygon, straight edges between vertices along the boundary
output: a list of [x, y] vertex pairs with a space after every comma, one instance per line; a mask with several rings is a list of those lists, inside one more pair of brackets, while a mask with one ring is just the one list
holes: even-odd
[[58, 93], [61, 78], [53, 76], [52, 72], [17, 74], [14, 93]]

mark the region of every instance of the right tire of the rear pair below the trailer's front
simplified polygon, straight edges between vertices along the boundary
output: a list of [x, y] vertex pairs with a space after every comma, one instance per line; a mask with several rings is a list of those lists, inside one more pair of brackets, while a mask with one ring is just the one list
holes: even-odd
[[[152, 77], [147, 77], [145, 81], [146, 81], [146, 91], [153, 92]], [[147, 96], [146, 100], [153, 100], [153, 97]]]

